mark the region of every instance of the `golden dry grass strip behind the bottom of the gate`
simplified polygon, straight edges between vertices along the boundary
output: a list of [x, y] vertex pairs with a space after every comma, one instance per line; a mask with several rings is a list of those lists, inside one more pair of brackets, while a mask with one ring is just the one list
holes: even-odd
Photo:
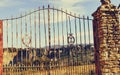
[[[50, 75], [94, 75], [95, 65], [69, 66], [50, 70]], [[48, 75], [48, 71], [4, 72], [3, 75]]]

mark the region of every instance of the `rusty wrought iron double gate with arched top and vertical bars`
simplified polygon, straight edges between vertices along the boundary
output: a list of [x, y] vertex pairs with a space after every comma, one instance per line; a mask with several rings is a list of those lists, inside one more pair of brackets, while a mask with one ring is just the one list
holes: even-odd
[[92, 19], [44, 6], [3, 20], [3, 75], [94, 75]]

